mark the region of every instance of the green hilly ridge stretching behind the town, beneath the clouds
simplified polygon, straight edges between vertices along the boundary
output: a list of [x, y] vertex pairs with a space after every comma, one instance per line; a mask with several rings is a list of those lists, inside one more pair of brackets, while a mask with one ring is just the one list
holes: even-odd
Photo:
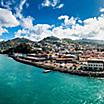
[[[15, 38], [8, 41], [2, 41], [0, 42], [0, 52], [1, 53], [9, 53], [9, 52], [24, 52], [28, 53], [31, 52], [34, 48], [42, 48], [44, 50], [47, 49], [47, 47], [51, 47], [51, 49], [54, 49], [56, 47], [61, 47], [65, 44], [91, 44], [91, 45], [99, 45], [103, 46], [104, 41], [103, 40], [90, 40], [90, 39], [80, 39], [80, 40], [72, 40], [68, 38], [59, 39], [54, 36], [50, 36], [47, 38], [44, 38], [43, 40], [39, 42], [33, 42], [26, 38]], [[32, 49], [33, 48], [33, 49]]]

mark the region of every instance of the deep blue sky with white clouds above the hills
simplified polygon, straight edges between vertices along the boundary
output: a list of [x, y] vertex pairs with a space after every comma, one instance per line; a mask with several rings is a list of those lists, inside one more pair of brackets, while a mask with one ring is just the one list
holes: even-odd
[[0, 0], [0, 41], [47, 36], [104, 40], [104, 0]]

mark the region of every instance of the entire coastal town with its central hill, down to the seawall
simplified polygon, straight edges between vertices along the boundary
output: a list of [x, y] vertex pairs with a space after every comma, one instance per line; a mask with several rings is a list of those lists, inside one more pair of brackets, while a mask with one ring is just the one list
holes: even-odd
[[64, 39], [63, 42], [51, 36], [38, 43], [19, 44], [16, 48], [8, 48], [4, 53], [8, 52], [16, 61], [47, 70], [104, 77], [103, 45], [67, 41], [71, 40]]

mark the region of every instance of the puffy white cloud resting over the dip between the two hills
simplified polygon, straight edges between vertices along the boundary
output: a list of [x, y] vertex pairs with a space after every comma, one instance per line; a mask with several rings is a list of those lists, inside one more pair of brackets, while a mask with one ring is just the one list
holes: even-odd
[[52, 35], [52, 32], [50, 30], [52, 29], [52, 27], [53, 26], [48, 24], [37, 24], [29, 29], [18, 30], [15, 33], [15, 37], [25, 37], [33, 41], [39, 41], [47, 36]]

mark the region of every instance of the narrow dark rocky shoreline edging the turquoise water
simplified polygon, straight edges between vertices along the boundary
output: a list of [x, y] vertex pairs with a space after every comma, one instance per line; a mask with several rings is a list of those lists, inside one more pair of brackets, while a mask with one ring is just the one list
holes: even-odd
[[79, 75], [79, 76], [88, 76], [88, 77], [104, 77], [104, 71], [101, 72], [93, 72], [93, 71], [83, 71], [83, 70], [66, 70], [65, 68], [59, 68], [59, 67], [53, 67], [53, 66], [48, 66], [42, 63], [37, 63], [37, 62], [32, 62], [30, 60], [25, 60], [25, 59], [21, 59], [19, 57], [14, 57], [11, 56], [15, 61], [24, 63], [24, 64], [28, 64], [28, 65], [32, 65], [32, 66], [36, 66], [39, 68], [43, 68], [45, 70], [52, 70], [52, 71], [59, 71], [59, 72], [63, 72], [63, 73], [69, 73], [72, 75]]

